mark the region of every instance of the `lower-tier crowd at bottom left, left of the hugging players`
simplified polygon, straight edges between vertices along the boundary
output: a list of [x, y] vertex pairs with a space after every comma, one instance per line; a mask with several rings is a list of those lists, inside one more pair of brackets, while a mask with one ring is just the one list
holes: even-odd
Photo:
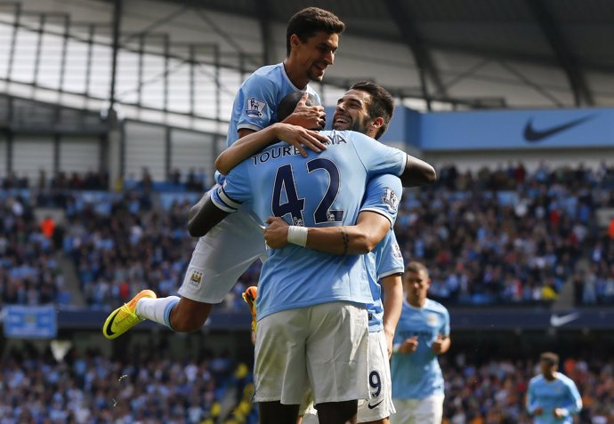
[[225, 396], [232, 406], [237, 394], [253, 390], [246, 364], [228, 356], [177, 361], [140, 351], [111, 360], [72, 350], [57, 362], [34, 348], [13, 349], [1, 361], [0, 422], [216, 424]]

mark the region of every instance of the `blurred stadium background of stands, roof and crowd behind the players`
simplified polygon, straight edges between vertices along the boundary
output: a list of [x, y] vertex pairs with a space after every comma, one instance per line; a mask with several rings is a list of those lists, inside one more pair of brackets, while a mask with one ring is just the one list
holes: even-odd
[[[540, 352], [614, 422], [614, 3], [0, 1], [0, 422], [254, 423], [255, 263], [202, 331], [101, 335], [174, 294], [230, 107], [319, 6], [347, 25], [323, 84], [397, 101], [382, 139], [433, 164], [395, 231], [450, 312], [452, 424], [528, 423]], [[327, 109], [332, 116], [333, 108]]]

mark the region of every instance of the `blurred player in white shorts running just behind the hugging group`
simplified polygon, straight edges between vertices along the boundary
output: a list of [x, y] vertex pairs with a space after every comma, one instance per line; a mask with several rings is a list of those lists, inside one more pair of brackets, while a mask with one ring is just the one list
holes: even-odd
[[397, 413], [391, 422], [440, 424], [443, 375], [437, 356], [450, 347], [448, 309], [426, 298], [431, 285], [426, 267], [410, 262], [403, 284], [403, 302], [392, 349], [392, 399]]

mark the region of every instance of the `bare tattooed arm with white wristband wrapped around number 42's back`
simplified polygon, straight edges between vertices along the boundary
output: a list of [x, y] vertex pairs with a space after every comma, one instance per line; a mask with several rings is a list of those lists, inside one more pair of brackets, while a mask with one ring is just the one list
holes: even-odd
[[[287, 222], [278, 217], [267, 220], [264, 239], [273, 249], [288, 244]], [[376, 212], [360, 212], [356, 225], [327, 228], [303, 228], [308, 231], [304, 247], [335, 255], [371, 252], [390, 229], [390, 220]]]

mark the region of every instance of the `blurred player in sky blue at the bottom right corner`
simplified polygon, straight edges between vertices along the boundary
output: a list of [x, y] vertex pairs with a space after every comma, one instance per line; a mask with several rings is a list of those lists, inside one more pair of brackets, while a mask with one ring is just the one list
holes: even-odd
[[539, 356], [541, 373], [529, 381], [527, 410], [535, 424], [572, 424], [582, 409], [576, 384], [557, 372], [559, 356], [545, 352]]

